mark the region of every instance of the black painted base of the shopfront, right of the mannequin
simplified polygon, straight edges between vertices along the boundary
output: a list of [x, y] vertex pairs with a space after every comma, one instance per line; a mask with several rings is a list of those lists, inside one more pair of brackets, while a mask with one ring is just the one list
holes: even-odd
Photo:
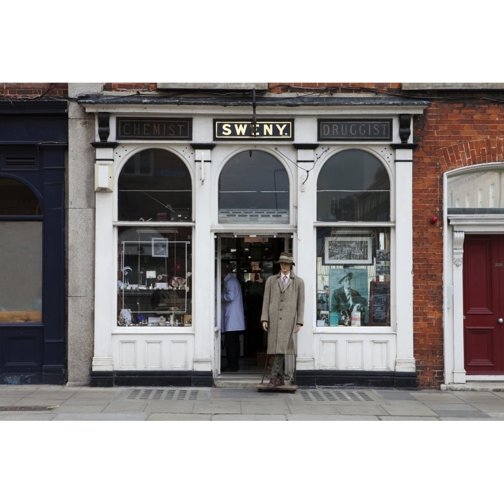
[[300, 387], [377, 387], [388, 389], [418, 389], [415, 372], [338, 371], [317, 369], [296, 371]]

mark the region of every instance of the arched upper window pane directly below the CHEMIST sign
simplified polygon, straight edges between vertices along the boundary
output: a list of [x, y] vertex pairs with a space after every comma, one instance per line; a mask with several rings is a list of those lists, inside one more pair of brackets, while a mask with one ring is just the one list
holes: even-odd
[[190, 221], [191, 175], [180, 158], [163, 149], [135, 154], [118, 179], [121, 221]]

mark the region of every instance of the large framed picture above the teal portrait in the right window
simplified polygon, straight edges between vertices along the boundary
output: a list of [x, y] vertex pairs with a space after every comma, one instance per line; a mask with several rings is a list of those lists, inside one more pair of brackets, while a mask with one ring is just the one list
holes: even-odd
[[324, 248], [325, 264], [372, 264], [370, 236], [329, 236]]

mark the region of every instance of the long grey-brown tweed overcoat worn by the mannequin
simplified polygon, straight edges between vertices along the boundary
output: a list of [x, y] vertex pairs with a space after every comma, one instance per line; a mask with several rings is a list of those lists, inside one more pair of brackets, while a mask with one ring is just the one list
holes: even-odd
[[268, 355], [295, 354], [293, 332], [304, 324], [304, 281], [290, 271], [283, 290], [282, 272], [266, 280], [261, 322], [268, 323]]

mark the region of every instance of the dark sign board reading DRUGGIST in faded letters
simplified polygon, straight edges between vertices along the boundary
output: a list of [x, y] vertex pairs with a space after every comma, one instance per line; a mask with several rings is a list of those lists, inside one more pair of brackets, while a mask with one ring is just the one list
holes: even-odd
[[392, 119], [319, 119], [319, 140], [392, 140]]

